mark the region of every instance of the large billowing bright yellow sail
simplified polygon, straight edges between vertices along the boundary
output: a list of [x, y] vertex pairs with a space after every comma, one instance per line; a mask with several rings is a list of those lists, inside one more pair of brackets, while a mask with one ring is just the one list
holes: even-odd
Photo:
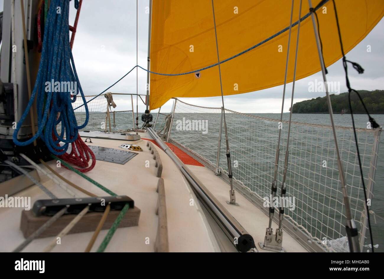
[[[295, 0], [293, 23], [299, 18]], [[313, 6], [318, 1], [313, 1]], [[296, 80], [321, 70], [308, 1], [303, 0]], [[262, 90], [284, 83], [289, 0], [214, 0], [223, 94]], [[383, 0], [336, 0], [344, 52], [356, 46], [384, 14]], [[341, 58], [333, 2], [316, 11], [326, 66]], [[210, 0], [153, 0], [152, 72], [179, 74], [217, 63], [214, 19]], [[287, 82], [293, 81], [297, 28], [292, 28]], [[283, 31], [285, 30], [285, 31]], [[353, 59], [353, 58], [351, 58]], [[361, 61], [363, 62], [363, 61]], [[362, 63], [364, 67], [364, 63]], [[331, 73], [330, 73], [331, 74]], [[220, 96], [218, 66], [200, 73], [164, 76], [151, 73], [149, 105], [159, 108], [172, 97]]]

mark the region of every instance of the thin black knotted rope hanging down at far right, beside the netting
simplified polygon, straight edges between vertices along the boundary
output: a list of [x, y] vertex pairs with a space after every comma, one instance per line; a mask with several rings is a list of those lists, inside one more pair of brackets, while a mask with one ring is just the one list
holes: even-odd
[[371, 128], [378, 128], [379, 125], [371, 117], [371, 115], [369, 115], [369, 112], [368, 112], [364, 102], [362, 101], [362, 98], [361, 98], [359, 92], [354, 90], [353, 88], [351, 88], [351, 85], [349, 83], [347, 62], [351, 63], [353, 65], [353, 68], [356, 69], [359, 74], [364, 73], [364, 69], [358, 63], [346, 60], [346, 58], [345, 58], [344, 49], [343, 49], [343, 43], [341, 41], [341, 32], [340, 32], [340, 26], [339, 26], [339, 19], [338, 19], [337, 12], [336, 12], [336, 4], [335, 4], [334, 0], [332, 0], [332, 2], [333, 2], [334, 10], [335, 10], [336, 23], [337, 23], [337, 28], [338, 28], [338, 32], [339, 32], [341, 53], [343, 54], [343, 67], [344, 67], [344, 71], [345, 71], [345, 79], [346, 79], [346, 84], [347, 84], [347, 88], [348, 88], [349, 109], [351, 110], [353, 132], [354, 132], [354, 136], [355, 136], [356, 150], [357, 150], [358, 158], [359, 158], [359, 167], [360, 167], [361, 181], [362, 181], [362, 187], [363, 187], [363, 190], [364, 190], [364, 198], [365, 198], [365, 203], [364, 204], [365, 204], [365, 207], [366, 207], [366, 210], [367, 210], [367, 219], [368, 219], [369, 234], [370, 234], [370, 237], [371, 237], [372, 252], [374, 252], [372, 229], [371, 229], [371, 220], [369, 218], [369, 209], [368, 209], [368, 205], [367, 205], [367, 193], [366, 193], [366, 189], [365, 189], [364, 176], [363, 176], [363, 173], [362, 173], [360, 151], [359, 151], [359, 145], [358, 145], [358, 138], [357, 138], [357, 135], [356, 135], [356, 127], [355, 127], [355, 121], [354, 121], [354, 118], [353, 118], [353, 111], [352, 111], [352, 105], [351, 105], [351, 92], [352, 91], [355, 92], [359, 96], [359, 99], [360, 99], [360, 101], [361, 101], [361, 103], [362, 103], [362, 105], [364, 107], [364, 110], [366, 111], [366, 113], [367, 113], [367, 115], [369, 117], [369, 122], [371, 123]]

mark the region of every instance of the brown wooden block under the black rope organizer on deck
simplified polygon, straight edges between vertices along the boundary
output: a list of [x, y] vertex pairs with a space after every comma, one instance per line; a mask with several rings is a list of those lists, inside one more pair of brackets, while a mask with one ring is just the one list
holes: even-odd
[[[110, 229], [115, 219], [118, 217], [120, 211], [109, 211], [108, 217], [103, 225], [102, 229]], [[103, 216], [103, 212], [89, 212], [85, 214], [83, 218], [77, 223], [68, 234], [95, 231], [99, 221]], [[66, 214], [61, 216], [55, 223], [38, 236], [38, 238], [56, 236], [62, 229], [64, 229], [70, 221], [76, 217], [76, 214]], [[140, 209], [136, 206], [128, 209], [124, 218], [121, 220], [119, 228], [137, 226], [139, 224]], [[40, 228], [50, 216], [34, 216], [32, 210], [23, 210], [22, 219], [20, 223], [20, 229], [23, 232], [24, 237], [30, 236], [38, 228]]]

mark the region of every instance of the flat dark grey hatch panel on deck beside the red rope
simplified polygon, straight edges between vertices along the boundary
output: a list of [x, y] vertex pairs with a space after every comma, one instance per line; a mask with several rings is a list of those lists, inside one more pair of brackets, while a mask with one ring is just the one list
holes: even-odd
[[92, 146], [88, 145], [89, 148], [93, 151], [93, 154], [96, 156], [96, 160], [106, 161], [116, 164], [125, 164], [137, 153], [129, 152], [125, 150], [119, 150], [114, 148], [107, 148], [103, 146]]

